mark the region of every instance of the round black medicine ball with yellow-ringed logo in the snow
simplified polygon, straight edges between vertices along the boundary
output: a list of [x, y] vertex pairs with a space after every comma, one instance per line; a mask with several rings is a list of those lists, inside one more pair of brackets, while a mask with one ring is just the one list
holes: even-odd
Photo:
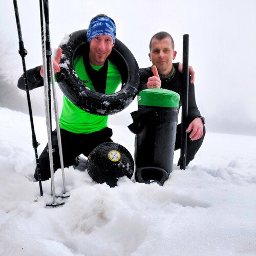
[[116, 186], [120, 177], [132, 178], [134, 161], [132, 155], [122, 145], [115, 142], [104, 142], [88, 156], [88, 174], [95, 182]]

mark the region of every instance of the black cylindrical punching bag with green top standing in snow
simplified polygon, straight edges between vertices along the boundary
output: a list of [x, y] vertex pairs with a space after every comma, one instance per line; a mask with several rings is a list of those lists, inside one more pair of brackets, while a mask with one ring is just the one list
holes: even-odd
[[163, 183], [173, 170], [180, 95], [166, 89], [146, 89], [138, 95], [138, 111], [129, 129], [135, 138], [135, 180]]

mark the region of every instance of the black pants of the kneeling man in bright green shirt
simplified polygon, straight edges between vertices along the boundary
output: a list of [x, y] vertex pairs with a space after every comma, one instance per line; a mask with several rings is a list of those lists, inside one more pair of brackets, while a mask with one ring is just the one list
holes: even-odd
[[[111, 142], [113, 135], [112, 129], [105, 127], [104, 129], [90, 134], [75, 134], [66, 130], [60, 129], [62, 154], [64, 167], [74, 165], [75, 158], [80, 154], [88, 156], [96, 146], [104, 142]], [[54, 172], [60, 168], [59, 149], [56, 130], [52, 133], [52, 148], [53, 148], [53, 168]], [[39, 167], [41, 180], [48, 180], [51, 177], [50, 160], [48, 154], [48, 144], [39, 157]], [[37, 170], [34, 177], [38, 180]]]

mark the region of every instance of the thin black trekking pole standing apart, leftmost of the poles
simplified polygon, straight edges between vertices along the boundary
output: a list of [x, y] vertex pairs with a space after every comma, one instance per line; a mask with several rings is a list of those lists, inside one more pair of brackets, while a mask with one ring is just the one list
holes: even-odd
[[39, 183], [40, 195], [42, 196], [43, 195], [42, 180], [41, 180], [40, 166], [39, 166], [38, 154], [37, 154], [37, 147], [38, 147], [38, 145], [40, 145], [40, 143], [38, 143], [36, 141], [36, 136], [35, 136], [33, 114], [32, 114], [30, 94], [29, 94], [29, 89], [28, 89], [27, 69], [26, 69], [26, 62], [25, 62], [25, 56], [27, 55], [28, 51], [24, 48], [24, 42], [22, 39], [22, 28], [20, 27], [18, 5], [17, 5], [16, 0], [13, 0], [13, 6], [14, 6], [15, 17], [16, 17], [18, 39], [19, 39], [19, 51], [18, 52], [19, 52], [19, 55], [22, 57], [22, 64], [23, 64], [24, 83], [25, 83], [27, 100], [28, 100], [29, 117], [30, 117], [31, 132], [32, 132], [32, 145], [33, 145], [34, 151], [35, 151], [37, 178], [38, 178], [38, 183]]

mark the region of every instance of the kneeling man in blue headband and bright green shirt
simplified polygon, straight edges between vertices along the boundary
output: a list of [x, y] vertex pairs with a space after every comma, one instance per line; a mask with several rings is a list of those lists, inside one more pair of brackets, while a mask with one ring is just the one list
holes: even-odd
[[[74, 59], [74, 68], [80, 80], [91, 90], [112, 94], [121, 83], [121, 76], [117, 67], [108, 59], [116, 39], [116, 25], [114, 21], [100, 14], [92, 18], [87, 40], [89, 45], [84, 48], [82, 55]], [[58, 48], [53, 60], [54, 72], [59, 72], [61, 48]], [[43, 86], [42, 67], [28, 70], [28, 86], [32, 90]], [[18, 87], [25, 90], [23, 76], [18, 81]], [[112, 129], [108, 127], [108, 117], [93, 115], [85, 112], [63, 95], [63, 107], [59, 117], [63, 161], [68, 167], [75, 164], [81, 154], [88, 156], [93, 149], [103, 142], [112, 141]], [[54, 171], [60, 168], [56, 131], [52, 134]], [[50, 178], [50, 162], [48, 145], [39, 157], [41, 179]], [[37, 172], [34, 175], [37, 180]]]

